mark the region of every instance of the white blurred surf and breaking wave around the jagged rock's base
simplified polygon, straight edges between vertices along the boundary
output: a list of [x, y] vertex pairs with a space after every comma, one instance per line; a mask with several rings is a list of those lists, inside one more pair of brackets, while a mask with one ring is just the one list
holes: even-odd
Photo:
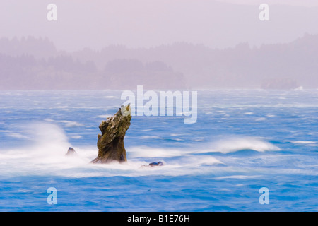
[[[0, 150], [1, 177], [23, 175], [57, 175], [64, 177], [135, 177], [150, 174], [187, 175], [216, 171], [222, 160], [209, 155], [211, 152], [230, 153], [237, 150], [279, 150], [275, 145], [260, 138], [228, 138], [208, 143], [201, 147], [149, 148], [130, 147], [127, 149], [128, 162], [113, 162], [107, 165], [90, 163], [98, 153], [94, 146], [76, 147], [60, 126], [37, 122], [20, 126], [19, 134], [28, 139], [20, 148]], [[69, 147], [77, 155], [66, 156]], [[149, 162], [163, 161], [163, 167], [141, 167]]]

